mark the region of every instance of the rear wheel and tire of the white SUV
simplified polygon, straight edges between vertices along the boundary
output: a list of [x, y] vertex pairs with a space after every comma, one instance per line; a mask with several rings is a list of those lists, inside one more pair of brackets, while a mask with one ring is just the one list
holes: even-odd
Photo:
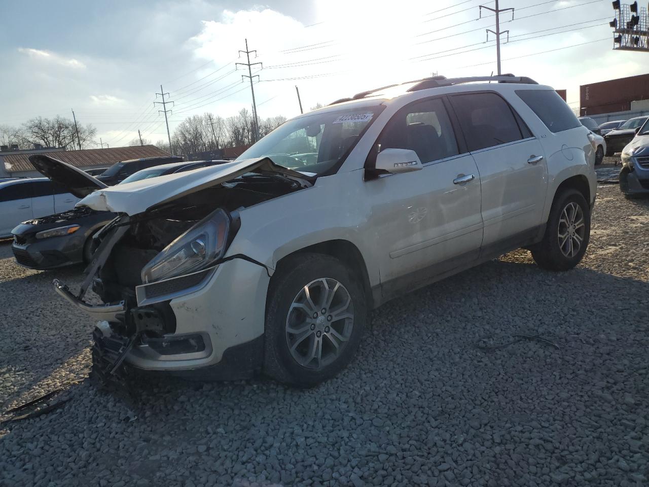
[[[574, 217], [573, 210], [576, 212]], [[573, 221], [582, 225], [572, 225]], [[560, 233], [565, 235], [563, 245], [559, 245]], [[532, 250], [532, 257], [540, 268], [567, 271], [582, 260], [590, 236], [591, 210], [588, 203], [577, 190], [565, 190], [554, 198], [543, 240]]]

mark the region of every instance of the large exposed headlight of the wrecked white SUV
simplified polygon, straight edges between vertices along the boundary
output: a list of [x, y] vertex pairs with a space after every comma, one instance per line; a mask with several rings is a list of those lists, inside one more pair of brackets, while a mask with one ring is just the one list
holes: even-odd
[[216, 210], [169, 243], [141, 272], [142, 282], [160, 281], [210, 266], [225, 252], [230, 218]]

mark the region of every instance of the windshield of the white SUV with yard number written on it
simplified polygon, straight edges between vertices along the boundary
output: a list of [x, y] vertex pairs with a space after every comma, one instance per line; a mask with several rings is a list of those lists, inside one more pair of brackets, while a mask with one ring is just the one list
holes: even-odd
[[304, 173], [335, 171], [384, 108], [354, 106], [289, 120], [237, 160], [267, 156], [275, 164]]

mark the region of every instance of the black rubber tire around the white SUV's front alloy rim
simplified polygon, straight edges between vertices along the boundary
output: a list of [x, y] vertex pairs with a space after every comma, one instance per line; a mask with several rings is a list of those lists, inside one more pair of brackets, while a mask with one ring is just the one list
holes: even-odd
[[[273, 276], [269, 288], [265, 322], [264, 372], [280, 382], [310, 387], [334, 377], [354, 356], [367, 321], [363, 286], [341, 261], [328, 255], [301, 254], [290, 258]], [[349, 292], [354, 306], [354, 327], [341, 355], [332, 364], [315, 371], [298, 364], [286, 343], [286, 316], [295, 296], [309, 282], [323, 277], [336, 279]]]

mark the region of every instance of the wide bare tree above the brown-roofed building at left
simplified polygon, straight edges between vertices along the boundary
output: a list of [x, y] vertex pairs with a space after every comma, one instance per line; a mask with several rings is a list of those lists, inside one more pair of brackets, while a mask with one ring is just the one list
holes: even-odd
[[[81, 147], [93, 142], [97, 135], [97, 129], [88, 123], [78, 124], [79, 142]], [[75, 123], [67, 118], [56, 116], [55, 118], [32, 118], [23, 124], [23, 137], [30, 144], [41, 144], [45, 147], [68, 147], [77, 149], [77, 131]]]

